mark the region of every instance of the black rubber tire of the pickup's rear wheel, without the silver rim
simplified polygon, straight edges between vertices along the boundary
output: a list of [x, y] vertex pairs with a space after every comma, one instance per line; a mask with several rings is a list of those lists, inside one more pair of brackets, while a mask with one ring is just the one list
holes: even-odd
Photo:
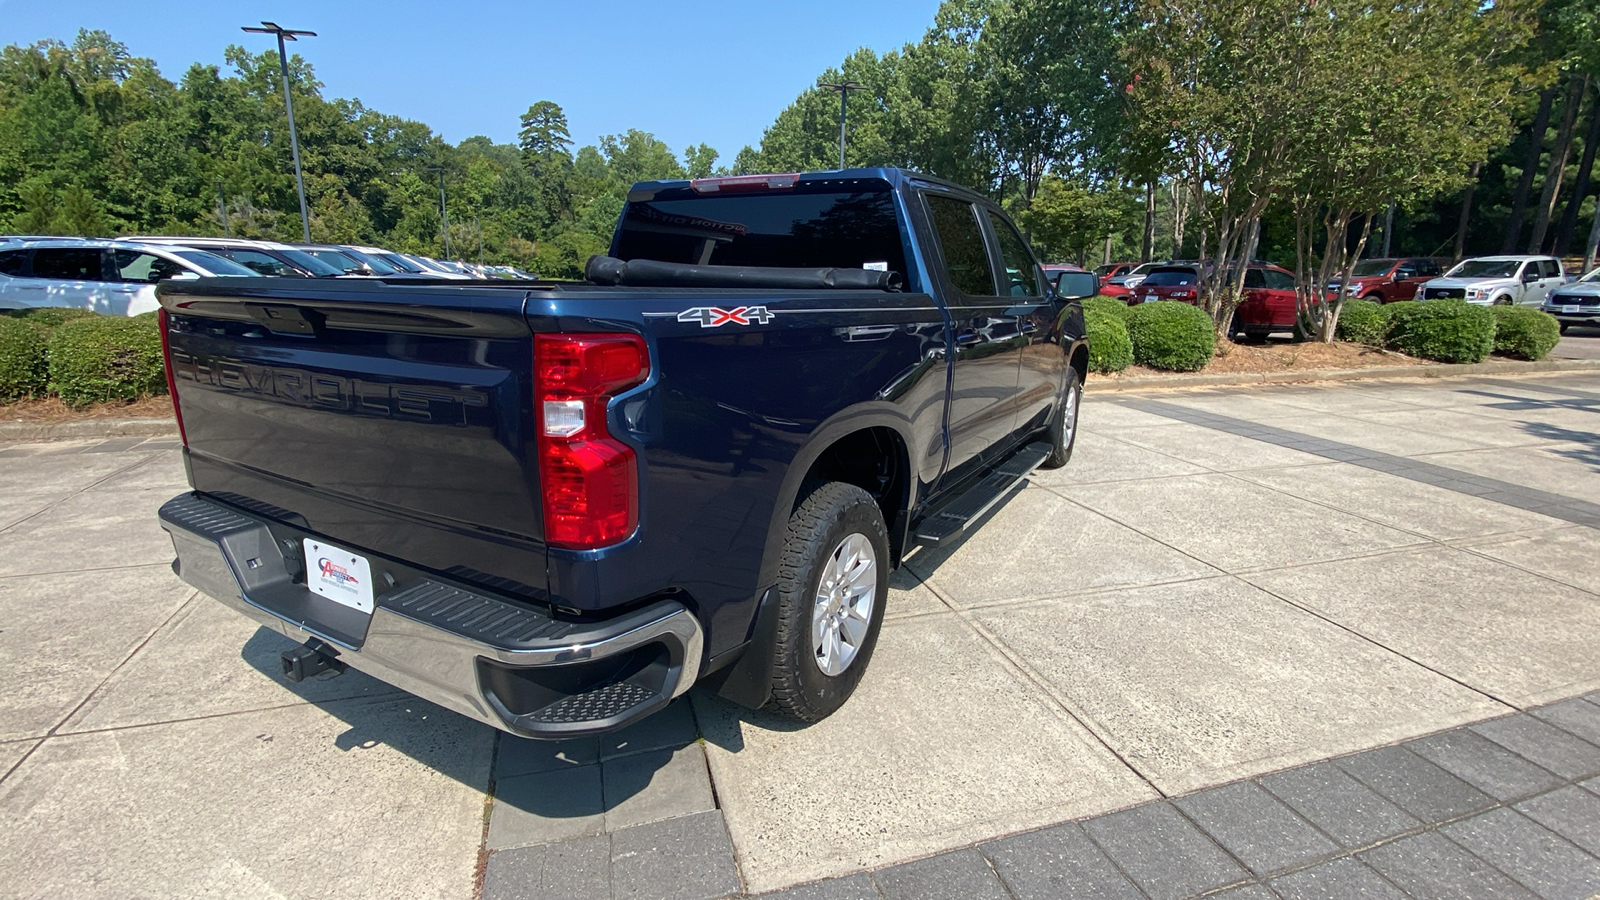
[[[813, 641], [813, 613], [822, 577], [835, 551], [853, 535], [864, 536], [875, 554], [877, 581], [864, 636], [843, 671], [822, 671]], [[883, 511], [872, 495], [853, 484], [827, 482], [813, 490], [789, 516], [789, 535], [778, 567], [778, 636], [773, 653], [773, 700], [781, 713], [819, 722], [850, 700], [872, 660], [890, 593], [890, 538]]]

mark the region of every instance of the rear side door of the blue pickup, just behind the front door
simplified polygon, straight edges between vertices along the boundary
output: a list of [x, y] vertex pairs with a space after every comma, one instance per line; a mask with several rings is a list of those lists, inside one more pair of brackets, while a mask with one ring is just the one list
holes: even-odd
[[941, 490], [981, 469], [1011, 432], [1018, 388], [1018, 319], [1000, 296], [978, 208], [949, 194], [926, 192], [939, 248], [939, 277], [950, 309], [954, 365], [946, 428], [950, 456]]

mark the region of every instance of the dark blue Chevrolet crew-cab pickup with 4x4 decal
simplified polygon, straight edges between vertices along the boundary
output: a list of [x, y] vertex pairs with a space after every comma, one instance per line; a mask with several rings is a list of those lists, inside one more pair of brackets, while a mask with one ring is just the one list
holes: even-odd
[[584, 282], [165, 282], [174, 572], [541, 738], [693, 684], [802, 721], [890, 572], [1072, 455], [1078, 298], [987, 199], [862, 168], [634, 186]]

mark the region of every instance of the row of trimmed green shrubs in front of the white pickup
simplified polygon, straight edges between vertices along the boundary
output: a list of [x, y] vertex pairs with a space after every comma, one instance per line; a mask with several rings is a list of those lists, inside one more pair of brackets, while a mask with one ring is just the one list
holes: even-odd
[[1438, 362], [1482, 362], [1490, 352], [1544, 359], [1562, 340], [1555, 317], [1526, 306], [1474, 306], [1464, 299], [1379, 304], [1347, 299], [1338, 338]]

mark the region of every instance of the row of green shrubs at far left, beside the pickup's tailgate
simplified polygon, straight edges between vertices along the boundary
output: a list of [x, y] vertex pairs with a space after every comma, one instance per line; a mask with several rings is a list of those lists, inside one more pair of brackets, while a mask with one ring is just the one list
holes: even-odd
[[67, 405], [136, 400], [166, 391], [155, 315], [86, 309], [0, 315], [0, 402], [58, 394]]

